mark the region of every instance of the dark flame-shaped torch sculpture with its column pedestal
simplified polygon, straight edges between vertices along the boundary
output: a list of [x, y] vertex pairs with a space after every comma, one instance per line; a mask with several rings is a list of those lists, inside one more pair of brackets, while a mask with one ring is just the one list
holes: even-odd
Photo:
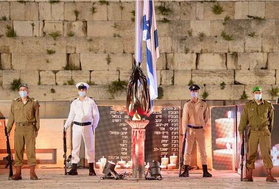
[[133, 178], [144, 179], [144, 128], [149, 123], [146, 118], [151, 114], [151, 100], [141, 63], [136, 61], [128, 84], [126, 111], [132, 119], [126, 122], [132, 127]]

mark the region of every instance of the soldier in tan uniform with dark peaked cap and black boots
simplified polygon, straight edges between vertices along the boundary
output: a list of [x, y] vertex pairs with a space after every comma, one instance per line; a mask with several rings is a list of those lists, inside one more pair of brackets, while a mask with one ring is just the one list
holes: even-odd
[[[196, 84], [190, 86], [190, 94], [192, 99], [185, 103], [182, 115], [182, 130], [183, 135], [186, 134], [186, 145], [184, 155], [185, 170], [181, 174], [182, 177], [189, 177], [191, 152], [193, 144], [196, 141], [198, 150], [201, 154], [201, 162], [203, 165], [203, 177], [212, 177], [208, 172], [207, 152], [205, 141], [205, 129], [209, 121], [209, 109], [204, 100], [198, 98], [200, 87]], [[183, 156], [183, 155], [182, 155]]]

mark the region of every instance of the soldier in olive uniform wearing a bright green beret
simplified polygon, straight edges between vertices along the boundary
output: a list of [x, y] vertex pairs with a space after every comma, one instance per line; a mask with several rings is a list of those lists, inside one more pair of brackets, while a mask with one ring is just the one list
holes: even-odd
[[271, 131], [273, 128], [273, 106], [268, 101], [262, 99], [262, 87], [253, 88], [253, 100], [247, 102], [241, 115], [239, 124], [239, 133], [243, 139], [243, 133], [246, 126], [249, 126], [248, 134], [248, 152], [246, 159], [247, 176], [244, 181], [253, 181], [253, 169], [260, 144], [264, 167], [267, 169], [266, 181], [277, 182], [272, 176], [271, 169], [273, 163], [271, 160]]

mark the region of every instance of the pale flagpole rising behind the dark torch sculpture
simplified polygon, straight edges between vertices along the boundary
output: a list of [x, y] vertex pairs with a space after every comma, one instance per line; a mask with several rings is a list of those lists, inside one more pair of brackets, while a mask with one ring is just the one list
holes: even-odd
[[141, 62], [141, 40], [142, 40], [142, 28], [141, 28], [141, 0], [136, 0], [136, 12], [135, 12], [135, 59], [137, 64]]

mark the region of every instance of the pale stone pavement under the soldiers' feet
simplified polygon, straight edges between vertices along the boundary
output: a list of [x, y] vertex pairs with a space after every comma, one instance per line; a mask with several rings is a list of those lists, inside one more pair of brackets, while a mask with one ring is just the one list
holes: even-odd
[[[118, 171], [122, 173], [124, 170]], [[189, 178], [177, 177], [178, 171], [162, 171], [162, 181], [101, 180], [89, 177], [88, 169], [78, 169], [77, 176], [65, 176], [64, 169], [36, 169], [38, 181], [29, 179], [29, 169], [23, 169], [23, 180], [9, 181], [8, 169], [0, 169], [1, 189], [279, 189], [279, 183], [267, 183], [264, 177], [254, 182], [240, 182], [240, 175], [228, 171], [213, 171], [212, 178], [202, 178], [201, 170], [190, 171]], [[210, 171], [211, 172], [211, 171]]]

